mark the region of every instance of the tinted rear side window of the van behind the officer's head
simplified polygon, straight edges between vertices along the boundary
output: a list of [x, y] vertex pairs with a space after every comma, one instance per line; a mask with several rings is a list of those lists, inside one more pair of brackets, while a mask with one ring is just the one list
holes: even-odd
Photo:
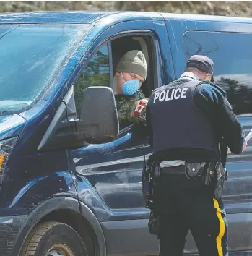
[[227, 92], [238, 116], [252, 116], [251, 45], [252, 34], [248, 33], [190, 31], [183, 36], [186, 61], [194, 54], [214, 61], [214, 82]]

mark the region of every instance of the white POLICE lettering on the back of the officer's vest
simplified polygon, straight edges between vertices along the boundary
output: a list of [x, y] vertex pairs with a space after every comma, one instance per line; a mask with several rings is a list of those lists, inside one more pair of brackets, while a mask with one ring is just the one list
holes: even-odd
[[154, 95], [153, 103], [156, 102], [156, 100], [162, 102], [162, 101], [173, 101], [178, 100], [180, 98], [186, 98], [186, 91], [188, 88], [173, 88], [169, 90], [162, 90], [161, 93], [157, 92]]

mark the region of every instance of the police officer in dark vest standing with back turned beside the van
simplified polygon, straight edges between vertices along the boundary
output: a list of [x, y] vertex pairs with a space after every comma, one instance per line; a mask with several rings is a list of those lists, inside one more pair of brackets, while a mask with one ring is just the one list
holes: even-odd
[[239, 154], [246, 142], [213, 67], [208, 57], [191, 56], [181, 77], [154, 90], [147, 104], [149, 164], [160, 167], [153, 195], [160, 256], [182, 256], [188, 230], [201, 256], [228, 255], [225, 208], [215, 196], [225, 162], [220, 147]]

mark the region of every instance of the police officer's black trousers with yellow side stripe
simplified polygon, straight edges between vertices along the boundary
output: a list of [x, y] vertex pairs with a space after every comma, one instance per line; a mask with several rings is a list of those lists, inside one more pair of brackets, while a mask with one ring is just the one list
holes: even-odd
[[155, 182], [154, 202], [160, 223], [160, 256], [182, 256], [188, 231], [201, 256], [227, 256], [227, 221], [222, 200], [201, 177], [161, 174]]

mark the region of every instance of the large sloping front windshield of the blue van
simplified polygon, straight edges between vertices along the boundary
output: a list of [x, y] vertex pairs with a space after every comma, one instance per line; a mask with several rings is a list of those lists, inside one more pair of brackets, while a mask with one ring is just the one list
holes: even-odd
[[0, 25], [0, 116], [35, 101], [89, 29], [87, 24]]

